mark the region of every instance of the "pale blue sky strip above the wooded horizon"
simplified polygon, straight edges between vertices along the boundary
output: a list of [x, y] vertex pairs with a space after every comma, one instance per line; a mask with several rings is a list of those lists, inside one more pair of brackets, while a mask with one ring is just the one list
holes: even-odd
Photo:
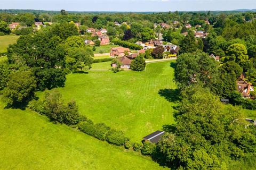
[[0, 0], [0, 8], [54, 11], [225, 11], [255, 9], [256, 0]]

